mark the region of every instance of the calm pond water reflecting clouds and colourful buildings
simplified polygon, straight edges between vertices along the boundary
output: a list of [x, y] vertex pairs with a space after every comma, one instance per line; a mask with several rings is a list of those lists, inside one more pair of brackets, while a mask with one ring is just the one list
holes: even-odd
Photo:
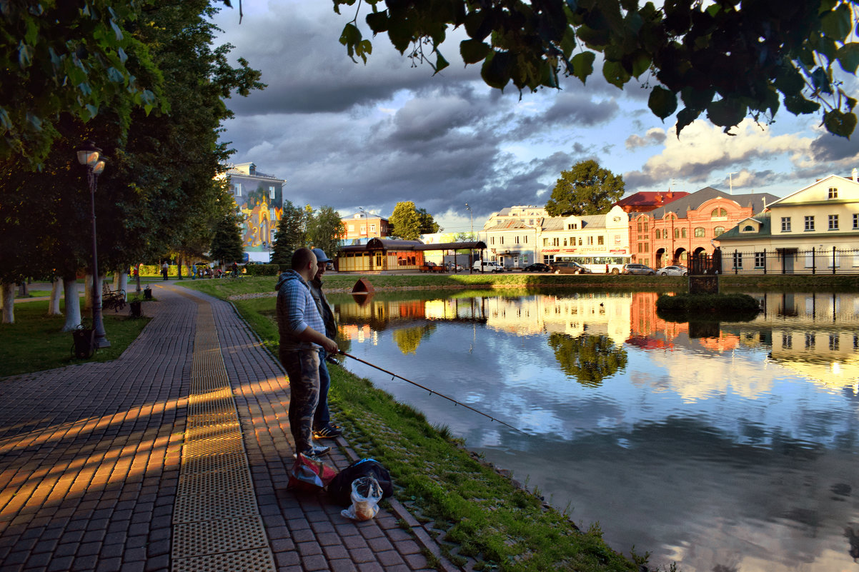
[[685, 572], [857, 572], [859, 295], [752, 294], [765, 313], [716, 327], [658, 319], [654, 293], [332, 302], [350, 353], [527, 435], [350, 370], [615, 549]]

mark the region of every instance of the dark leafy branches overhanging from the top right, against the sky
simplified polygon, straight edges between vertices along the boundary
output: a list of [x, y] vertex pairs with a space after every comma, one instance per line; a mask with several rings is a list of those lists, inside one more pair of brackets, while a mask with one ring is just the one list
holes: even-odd
[[[334, 11], [354, 3], [334, 0]], [[856, 99], [837, 75], [855, 76], [859, 67], [859, 43], [849, 41], [856, 4], [678, 0], [657, 9], [637, 0], [450, 0], [443, 9], [397, 2], [380, 10], [369, 2], [366, 22], [436, 73], [448, 66], [440, 51], [448, 26], [465, 27], [463, 61], [482, 62], [484, 82], [499, 89], [558, 88], [561, 75], [583, 83], [600, 53], [606, 81], [623, 88], [636, 78], [650, 88], [649, 108], [660, 119], [673, 115], [679, 97], [678, 135], [702, 114], [725, 132], [746, 115], [772, 122], [783, 102], [795, 115], [822, 111], [828, 131], [850, 137]], [[356, 25], [358, 11], [340, 43], [366, 63], [372, 45]]]

